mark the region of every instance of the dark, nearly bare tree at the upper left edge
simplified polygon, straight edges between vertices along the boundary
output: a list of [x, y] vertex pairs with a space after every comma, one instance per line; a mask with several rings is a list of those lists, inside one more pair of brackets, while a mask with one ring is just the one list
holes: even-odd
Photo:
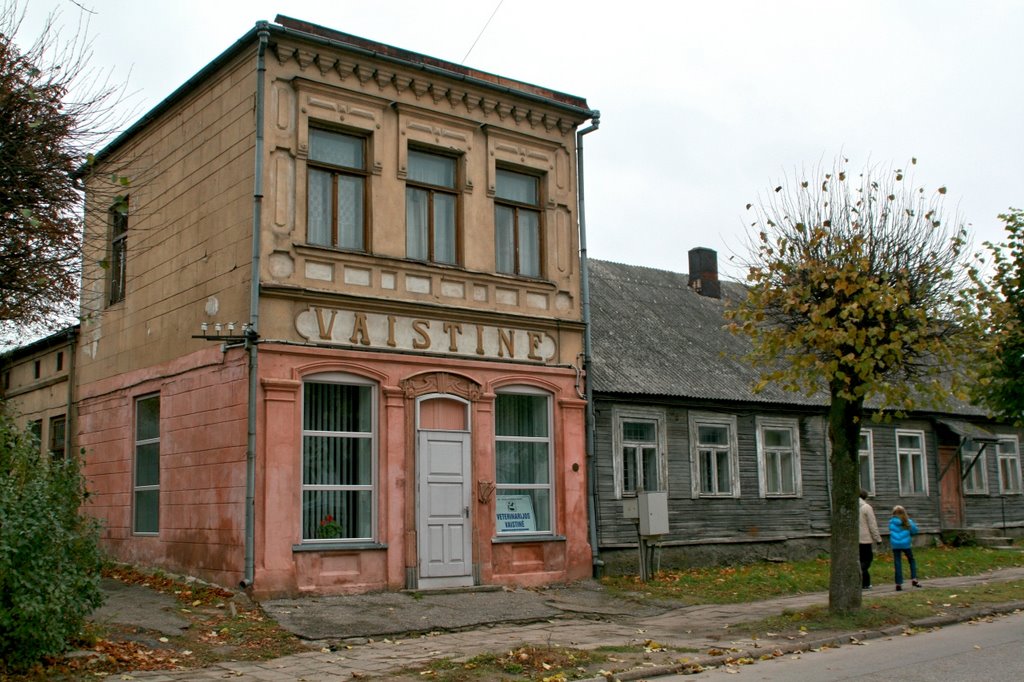
[[17, 2], [0, 8], [0, 334], [8, 338], [77, 313], [80, 173], [120, 123], [124, 92], [89, 67], [86, 10], [67, 39], [51, 14], [28, 47], [18, 44], [23, 18]]

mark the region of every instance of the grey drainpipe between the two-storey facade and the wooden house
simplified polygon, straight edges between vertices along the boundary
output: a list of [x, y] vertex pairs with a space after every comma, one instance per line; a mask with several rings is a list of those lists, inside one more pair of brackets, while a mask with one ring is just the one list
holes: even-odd
[[596, 578], [604, 565], [597, 549], [597, 483], [594, 457], [594, 389], [590, 380], [590, 268], [587, 264], [587, 212], [584, 202], [583, 181], [583, 136], [597, 130], [601, 124], [601, 113], [590, 113], [591, 125], [577, 131], [577, 195], [580, 211], [580, 297], [583, 299], [583, 369], [584, 397], [587, 399], [587, 524], [590, 526], [590, 549], [594, 557], [593, 571]]

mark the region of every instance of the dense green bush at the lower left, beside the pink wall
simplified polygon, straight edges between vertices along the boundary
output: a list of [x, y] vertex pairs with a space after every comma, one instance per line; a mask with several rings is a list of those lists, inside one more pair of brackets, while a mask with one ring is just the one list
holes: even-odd
[[96, 521], [75, 458], [50, 460], [0, 411], [0, 677], [65, 650], [101, 603]]

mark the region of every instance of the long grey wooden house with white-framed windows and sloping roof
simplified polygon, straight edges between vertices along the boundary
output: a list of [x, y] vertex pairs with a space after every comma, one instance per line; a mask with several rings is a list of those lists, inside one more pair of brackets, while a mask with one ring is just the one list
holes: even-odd
[[[719, 281], [710, 249], [690, 252], [690, 275], [596, 260], [589, 270], [595, 549], [606, 570], [637, 560], [623, 503], [641, 491], [668, 494], [663, 567], [825, 551], [826, 397], [752, 392], [749, 341], [723, 317], [742, 285]], [[1024, 536], [1022, 435], [970, 406], [865, 424], [861, 480], [880, 525], [899, 504], [920, 542], [963, 528]]]

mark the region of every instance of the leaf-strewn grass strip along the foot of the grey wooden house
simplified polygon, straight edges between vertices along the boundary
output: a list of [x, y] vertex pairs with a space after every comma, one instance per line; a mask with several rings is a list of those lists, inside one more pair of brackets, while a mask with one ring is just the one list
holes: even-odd
[[[976, 576], [995, 568], [1024, 566], [1024, 554], [985, 547], [947, 546], [915, 548], [918, 572], [923, 580]], [[871, 566], [877, 585], [892, 581], [892, 553], [874, 557]], [[601, 580], [612, 592], [645, 599], [668, 600], [680, 605], [732, 604], [773, 597], [828, 590], [828, 558], [787, 563], [761, 562], [741, 566], [663, 570], [643, 583], [635, 576]]]

